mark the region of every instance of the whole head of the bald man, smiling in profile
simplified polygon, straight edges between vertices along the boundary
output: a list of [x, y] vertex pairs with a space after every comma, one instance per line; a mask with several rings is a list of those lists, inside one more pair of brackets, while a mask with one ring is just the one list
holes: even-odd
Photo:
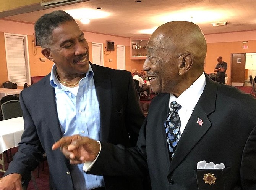
[[178, 97], [203, 73], [205, 56], [206, 40], [199, 26], [167, 22], [149, 38], [143, 69], [154, 93]]

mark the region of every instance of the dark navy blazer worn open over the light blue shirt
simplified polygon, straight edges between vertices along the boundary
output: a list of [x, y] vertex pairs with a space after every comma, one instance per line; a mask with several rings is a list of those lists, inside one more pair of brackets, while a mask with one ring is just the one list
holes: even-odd
[[[100, 107], [102, 142], [136, 145], [144, 115], [138, 101], [130, 72], [114, 70], [91, 64]], [[20, 94], [24, 117], [24, 133], [19, 151], [10, 163], [5, 175], [20, 173], [29, 179], [42, 157], [47, 154], [52, 189], [72, 190], [70, 163], [52, 145], [62, 137], [57, 115], [54, 88], [50, 85], [50, 74], [24, 89]], [[67, 108], [68, 109], [68, 108]], [[141, 189], [141, 178], [104, 176], [109, 190]]]

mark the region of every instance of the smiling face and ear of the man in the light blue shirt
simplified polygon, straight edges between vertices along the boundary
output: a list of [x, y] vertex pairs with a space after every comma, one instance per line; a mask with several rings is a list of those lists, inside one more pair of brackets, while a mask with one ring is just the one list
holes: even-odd
[[50, 49], [42, 54], [53, 61], [58, 72], [66, 76], [84, 74], [89, 69], [89, 46], [75, 21], [60, 24], [52, 32]]

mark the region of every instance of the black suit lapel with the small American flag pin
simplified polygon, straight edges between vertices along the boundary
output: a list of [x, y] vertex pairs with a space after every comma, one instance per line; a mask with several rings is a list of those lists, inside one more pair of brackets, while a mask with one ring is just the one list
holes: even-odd
[[[188, 155], [188, 153], [194, 146], [196, 146], [198, 141], [200, 141], [211, 127], [211, 121], [209, 120], [208, 115], [215, 110], [216, 96], [217, 86], [213, 81], [209, 80], [209, 77], [206, 76], [204, 91], [180, 137], [180, 141], [175, 151], [175, 156], [171, 161], [169, 173], [185, 159], [186, 155]], [[197, 123], [198, 118], [203, 120], [202, 126]]]

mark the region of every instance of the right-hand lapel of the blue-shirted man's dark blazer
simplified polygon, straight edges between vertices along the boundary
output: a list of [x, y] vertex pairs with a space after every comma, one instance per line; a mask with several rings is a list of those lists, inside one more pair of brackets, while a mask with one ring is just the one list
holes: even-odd
[[94, 85], [100, 108], [100, 140], [107, 141], [112, 105], [111, 81], [108, 73], [102, 67], [94, 64], [91, 64], [91, 67], [94, 73]]

